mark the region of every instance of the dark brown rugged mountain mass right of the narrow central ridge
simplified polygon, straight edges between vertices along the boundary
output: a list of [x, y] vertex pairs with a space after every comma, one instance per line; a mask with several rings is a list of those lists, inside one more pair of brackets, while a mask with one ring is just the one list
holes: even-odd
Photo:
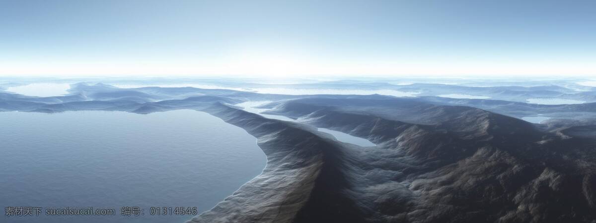
[[[278, 105], [274, 113], [284, 114], [296, 106], [293, 103]], [[309, 108], [304, 101], [296, 103], [302, 112]], [[596, 219], [594, 141], [564, 140], [521, 120], [482, 110], [433, 108], [420, 115], [452, 113], [436, 125], [344, 113], [320, 104], [305, 116], [289, 113], [311, 125], [331, 127], [381, 145], [363, 148], [365, 154], [347, 159], [358, 162], [344, 163], [359, 166], [349, 172], [359, 177], [350, 182], [352, 188], [346, 196], [368, 204], [360, 209], [371, 210], [365, 214], [371, 222]], [[373, 177], [371, 172], [384, 174]], [[369, 194], [383, 195], [367, 200]], [[315, 220], [297, 222], [324, 222]]]

